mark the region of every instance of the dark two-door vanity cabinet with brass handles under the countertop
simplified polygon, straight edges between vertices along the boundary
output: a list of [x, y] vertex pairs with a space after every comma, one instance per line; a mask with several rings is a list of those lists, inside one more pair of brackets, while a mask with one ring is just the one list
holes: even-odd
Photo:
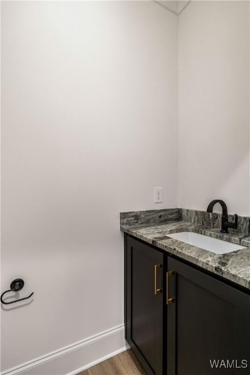
[[148, 375], [250, 374], [239, 289], [125, 234], [125, 338]]

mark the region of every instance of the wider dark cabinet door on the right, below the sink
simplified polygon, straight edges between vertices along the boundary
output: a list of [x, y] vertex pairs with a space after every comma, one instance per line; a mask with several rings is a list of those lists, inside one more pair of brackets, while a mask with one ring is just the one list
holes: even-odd
[[171, 257], [167, 270], [167, 375], [249, 374], [250, 296]]

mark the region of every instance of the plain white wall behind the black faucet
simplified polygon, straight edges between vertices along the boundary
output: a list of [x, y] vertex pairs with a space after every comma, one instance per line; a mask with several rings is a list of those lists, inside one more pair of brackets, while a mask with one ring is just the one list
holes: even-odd
[[178, 205], [249, 215], [249, 1], [192, 1], [178, 22]]

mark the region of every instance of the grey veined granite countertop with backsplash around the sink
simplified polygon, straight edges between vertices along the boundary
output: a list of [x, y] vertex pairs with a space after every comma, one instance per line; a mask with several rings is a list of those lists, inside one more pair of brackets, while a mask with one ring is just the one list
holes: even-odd
[[[189, 222], [183, 220], [187, 217]], [[239, 231], [228, 234], [220, 232], [220, 220], [220, 214], [173, 208], [122, 212], [120, 225], [122, 231], [136, 238], [250, 289], [250, 218], [241, 216]], [[247, 248], [215, 254], [167, 236], [181, 231], [205, 234]]]

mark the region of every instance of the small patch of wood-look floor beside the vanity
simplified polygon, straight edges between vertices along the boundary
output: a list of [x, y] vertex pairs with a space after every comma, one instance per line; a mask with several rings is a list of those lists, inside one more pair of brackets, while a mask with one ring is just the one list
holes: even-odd
[[78, 375], [146, 375], [131, 349], [115, 355]]

